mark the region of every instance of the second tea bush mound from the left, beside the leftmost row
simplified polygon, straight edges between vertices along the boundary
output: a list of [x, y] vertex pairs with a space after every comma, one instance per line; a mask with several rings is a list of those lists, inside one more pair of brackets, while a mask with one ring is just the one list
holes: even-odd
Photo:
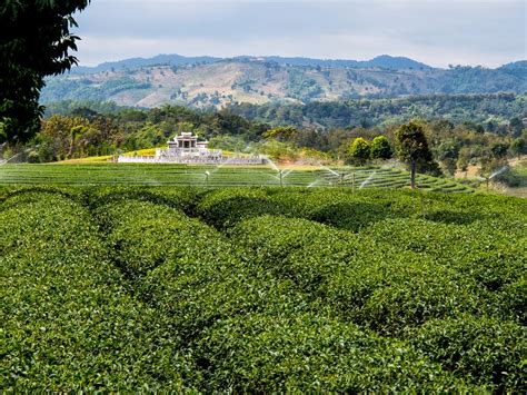
[[188, 342], [231, 315], [306, 308], [289, 282], [247, 265], [221, 234], [181, 211], [128, 200], [96, 215], [137, 295], [170, 317]]

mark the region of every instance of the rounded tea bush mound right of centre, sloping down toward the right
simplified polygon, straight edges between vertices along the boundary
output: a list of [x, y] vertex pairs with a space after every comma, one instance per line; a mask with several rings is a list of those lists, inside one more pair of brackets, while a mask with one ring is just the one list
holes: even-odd
[[484, 289], [474, 280], [361, 235], [269, 216], [242, 221], [230, 234], [253, 264], [319, 295], [346, 319], [384, 334], [485, 307]]

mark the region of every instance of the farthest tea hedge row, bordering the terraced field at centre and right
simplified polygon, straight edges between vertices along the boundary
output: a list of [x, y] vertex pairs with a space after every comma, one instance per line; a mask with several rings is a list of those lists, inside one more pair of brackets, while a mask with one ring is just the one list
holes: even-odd
[[[405, 190], [348, 189], [217, 189], [203, 194], [197, 215], [223, 229], [239, 220], [268, 214], [307, 218], [352, 231], [384, 219], [424, 218], [434, 223], [470, 225], [521, 235], [527, 220], [524, 199]], [[524, 233], [525, 234], [525, 233]]]

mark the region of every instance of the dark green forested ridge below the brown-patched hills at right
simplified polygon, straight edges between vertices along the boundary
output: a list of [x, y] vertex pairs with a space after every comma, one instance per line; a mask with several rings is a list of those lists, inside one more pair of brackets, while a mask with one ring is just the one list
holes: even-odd
[[[524, 71], [525, 72], [525, 71]], [[527, 80], [524, 78], [524, 80]], [[248, 119], [271, 126], [292, 125], [302, 128], [306, 120], [321, 125], [325, 129], [361, 126], [366, 120], [371, 126], [388, 126], [408, 122], [412, 118], [448, 119], [460, 125], [466, 120], [487, 124], [489, 118], [504, 124], [517, 117], [527, 117], [527, 97], [515, 93], [495, 95], [419, 95], [397, 99], [360, 99], [339, 101], [312, 101], [306, 105], [250, 105], [232, 103], [229, 109]], [[491, 130], [497, 132], [496, 122]], [[486, 128], [487, 129], [487, 128]], [[501, 129], [501, 128], [500, 128]], [[505, 129], [503, 129], [505, 131]]]

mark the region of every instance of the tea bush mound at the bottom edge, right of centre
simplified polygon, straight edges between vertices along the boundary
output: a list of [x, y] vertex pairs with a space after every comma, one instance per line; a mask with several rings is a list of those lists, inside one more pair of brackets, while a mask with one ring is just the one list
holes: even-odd
[[200, 348], [211, 363], [207, 392], [476, 391], [401, 342], [311, 314], [221, 320], [203, 334]]

